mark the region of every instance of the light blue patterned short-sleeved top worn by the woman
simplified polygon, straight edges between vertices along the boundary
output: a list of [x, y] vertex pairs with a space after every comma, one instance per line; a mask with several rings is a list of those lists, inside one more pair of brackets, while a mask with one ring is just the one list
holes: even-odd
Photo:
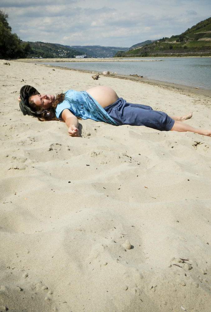
[[93, 119], [103, 121], [108, 124], [118, 125], [103, 109], [99, 103], [94, 100], [86, 91], [68, 90], [65, 92], [64, 100], [59, 103], [55, 109], [56, 117], [61, 118], [63, 110], [68, 109], [70, 112], [82, 119]]

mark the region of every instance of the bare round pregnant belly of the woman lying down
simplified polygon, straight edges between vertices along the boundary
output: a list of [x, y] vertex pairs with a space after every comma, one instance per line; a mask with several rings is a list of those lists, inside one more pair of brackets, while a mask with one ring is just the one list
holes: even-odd
[[113, 104], [117, 101], [118, 95], [110, 87], [99, 85], [86, 90], [102, 107]]

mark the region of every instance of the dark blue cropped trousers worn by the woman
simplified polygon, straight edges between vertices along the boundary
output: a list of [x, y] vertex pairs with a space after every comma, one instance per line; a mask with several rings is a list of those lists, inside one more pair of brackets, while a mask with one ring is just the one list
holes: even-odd
[[166, 113], [153, 110], [150, 106], [132, 104], [122, 98], [106, 107], [104, 110], [118, 125], [146, 126], [160, 131], [169, 131], [174, 125], [174, 119]]

